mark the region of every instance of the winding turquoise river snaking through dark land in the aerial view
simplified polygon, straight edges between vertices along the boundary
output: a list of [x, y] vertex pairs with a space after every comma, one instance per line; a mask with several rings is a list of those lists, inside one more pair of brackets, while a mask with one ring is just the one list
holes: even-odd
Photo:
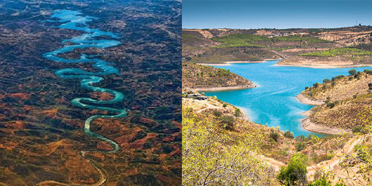
[[[118, 37], [116, 34], [110, 32], [103, 32], [99, 29], [92, 29], [89, 28], [87, 22], [92, 21], [92, 19], [96, 19], [94, 17], [89, 16], [81, 16], [80, 12], [72, 11], [72, 10], [56, 10], [52, 14], [52, 18], [58, 19], [58, 22], [61, 23], [59, 28], [61, 29], [68, 29], [68, 30], [80, 30], [84, 32], [78, 37], [74, 37], [72, 39], [65, 39], [62, 41], [63, 44], [69, 43], [69, 45], [64, 45], [62, 48], [56, 49], [52, 52], [46, 52], [43, 56], [46, 59], [50, 59], [52, 61], [60, 62], [60, 63], [88, 63], [92, 62], [93, 67], [98, 69], [99, 72], [87, 72], [85, 70], [79, 68], [65, 68], [62, 70], [58, 70], [55, 72], [57, 76], [62, 79], [81, 79], [81, 87], [96, 92], [107, 92], [114, 96], [114, 99], [108, 101], [101, 101], [95, 100], [90, 98], [75, 98], [72, 100], [72, 104], [83, 107], [87, 109], [96, 109], [96, 110], [105, 110], [109, 112], [117, 113], [116, 115], [94, 115], [90, 116], [85, 120], [84, 125], [84, 132], [87, 135], [90, 135], [94, 138], [99, 138], [103, 141], [106, 141], [112, 146], [112, 151], [108, 151], [107, 153], [115, 153], [119, 149], [119, 145], [101, 134], [96, 134], [90, 131], [90, 123], [95, 118], [121, 118], [127, 115], [127, 112], [124, 109], [116, 109], [112, 107], [103, 107], [103, 106], [96, 106], [97, 104], [108, 104], [108, 103], [117, 103], [119, 101], [123, 101], [124, 96], [121, 92], [117, 92], [115, 90], [103, 88], [103, 87], [96, 87], [94, 84], [99, 83], [103, 80], [104, 75], [109, 74], [118, 74], [118, 70], [112, 66], [111, 63], [107, 61], [103, 61], [101, 59], [96, 58], [95, 55], [86, 55], [81, 54], [80, 59], [65, 59], [63, 57], [58, 56], [59, 54], [63, 54], [66, 52], [72, 52], [78, 48], [109, 48], [116, 45], [120, 45], [117, 39]], [[54, 20], [50, 20], [54, 21]], [[96, 39], [96, 37], [100, 36], [107, 36], [111, 37], [112, 39]], [[72, 43], [72, 44], [71, 44]], [[94, 105], [90, 105], [94, 104]]]

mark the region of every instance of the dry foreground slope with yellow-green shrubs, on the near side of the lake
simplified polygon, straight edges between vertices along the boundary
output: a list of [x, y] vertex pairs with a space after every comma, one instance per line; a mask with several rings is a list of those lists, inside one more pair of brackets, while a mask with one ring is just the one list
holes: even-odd
[[[229, 166], [229, 172], [234, 172], [234, 181], [238, 183], [254, 180], [258, 185], [281, 185], [285, 182], [278, 175], [285, 172], [286, 167], [293, 166], [293, 158], [302, 156], [298, 163], [302, 164], [299, 170], [303, 172], [298, 174], [303, 177], [296, 180], [297, 183], [326, 181], [332, 185], [368, 185], [371, 182], [365, 176], [371, 172], [361, 171], [371, 160], [348, 157], [371, 153], [368, 152], [372, 147], [371, 137], [371, 134], [343, 134], [293, 138], [291, 132], [245, 120], [238, 108], [217, 98], [197, 100], [185, 97], [183, 184], [194, 185], [217, 167]], [[243, 153], [243, 149], [248, 153]], [[235, 163], [247, 167], [236, 166]], [[195, 176], [194, 172], [198, 172], [199, 176]], [[207, 178], [232, 184], [229, 181], [233, 180], [220, 179], [226, 172], [226, 169], [221, 169]], [[260, 178], [252, 178], [252, 174], [260, 175]]]

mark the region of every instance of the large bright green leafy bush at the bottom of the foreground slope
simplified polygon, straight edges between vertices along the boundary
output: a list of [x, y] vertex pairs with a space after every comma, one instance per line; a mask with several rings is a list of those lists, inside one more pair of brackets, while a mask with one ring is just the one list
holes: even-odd
[[283, 185], [306, 185], [307, 184], [307, 156], [294, 154], [287, 167], [282, 167], [278, 180]]

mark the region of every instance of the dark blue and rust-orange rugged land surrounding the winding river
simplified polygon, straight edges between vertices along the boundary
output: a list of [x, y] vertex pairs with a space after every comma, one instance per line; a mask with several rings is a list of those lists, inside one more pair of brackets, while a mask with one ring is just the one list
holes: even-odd
[[[0, 185], [180, 185], [180, 8], [178, 1], [1, 1]], [[96, 17], [90, 28], [114, 32], [123, 43], [64, 56], [98, 54], [118, 68], [120, 74], [105, 76], [99, 86], [125, 95], [110, 106], [127, 108], [128, 116], [96, 119], [90, 129], [116, 141], [116, 154], [79, 155], [111, 149], [82, 130], [86, 118], [107, 113], [74, 107], [71, 100], [112, 95], [88, 92], [79, 80], [54, 74], [62, 68], [94, 72], [92, 63], [43, 58], [81, 34], [46, 21], [61, 9]]]

